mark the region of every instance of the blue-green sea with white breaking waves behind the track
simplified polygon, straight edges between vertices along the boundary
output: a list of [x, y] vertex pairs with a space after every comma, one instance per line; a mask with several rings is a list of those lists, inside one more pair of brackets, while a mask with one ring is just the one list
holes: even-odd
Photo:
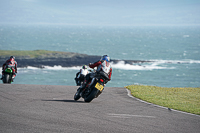
[[[107, 54], [121, 60], [111, 62], [113, 73], [107, 87], [200, 87], [200, 26], [1, 24], [0, 50]], [[150, 62], [126, 64], [123, 60]], [[74, 78], [80, 68], [56, 64], [18, 68], [12, 84], [76, 86]]]

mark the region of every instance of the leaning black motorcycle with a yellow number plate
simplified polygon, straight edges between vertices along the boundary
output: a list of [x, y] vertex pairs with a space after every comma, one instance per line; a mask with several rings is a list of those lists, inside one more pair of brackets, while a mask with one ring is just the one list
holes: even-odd
[[81, 97], [85, 102], [91, 102], [94, 98], [97, 98], [104, 90], [104, 85], [108, 82], [108, 75], [103, 71], [93, 72], [90, 74], [92, 80], [86, 86], [85, 89], [81, 91], [80, 87], [74, 95], [74, 100], [77, 101]]

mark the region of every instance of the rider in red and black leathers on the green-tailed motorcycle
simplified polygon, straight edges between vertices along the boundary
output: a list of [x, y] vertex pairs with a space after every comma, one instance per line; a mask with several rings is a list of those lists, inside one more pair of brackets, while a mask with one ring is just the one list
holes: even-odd
[[16, 73], [17, 73], [17, 62], [15, 61], [14, 56], [10, 56], [10, 58], [3, 64], [1, 80], [3, 79], [6, 68], [12, 69], [12, 73], [13, 73], [12, 82], [13, 82], [13, 79], [15, 78]]

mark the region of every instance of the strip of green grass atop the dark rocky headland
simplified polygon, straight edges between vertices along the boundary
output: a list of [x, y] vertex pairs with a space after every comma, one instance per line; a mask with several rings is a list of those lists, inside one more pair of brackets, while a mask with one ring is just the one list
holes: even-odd
[[37, 58], [41, 56], [55, 56], [55, 55], [73, 55], [70, 52], [58, 52], [58, 51], [47, 51], [47, 50], [34, 50], [34, 51], [18, 51], [18, 50], [0, 50], [0, 56], [10, 57], [11, 55], [15, 57], [28, 57]]

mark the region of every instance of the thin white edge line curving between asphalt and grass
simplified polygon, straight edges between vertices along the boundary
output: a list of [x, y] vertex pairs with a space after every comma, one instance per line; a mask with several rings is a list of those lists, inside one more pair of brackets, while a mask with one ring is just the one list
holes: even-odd
[[143, 100], [141, 100], [141, 99], [138, 99], [138, 98], [132, 96], [130, 90], [128, 90], [128, 89], [126, 89], [126, 90], [127, 90], [127, 92], [128, 92], [127, 95], [128, 95], [129, 97], [131, 97], [131, 98], [133, 98], [133, 99], [136, 99], [136, 100], [138, 100], [138, 101], [140, 101], [140, 102], [143, 102], [143, 103], [146, 103], [146, 104], [150, 104], [150, 105], [153, 105], [153, 106], [155, 106], [155, 107], [167, 109], [167, 110], [169, 110], [169, 111], [175, 111], [175, 112], [179, 112], [179, 113], [183, 113], [183, 114], [194, 115], [194, 116], [200, 117], [200, 115], [191, 114], [191, 113], [187, 113], [187, 112], [183, 112], [183, 111], [179, 111], [179, 110], [175, 110], [175, 109], [170, 109], [170, 108], [167, 108], [167, 107], [163, 107], [163, 106], [159, 106], [159, 105], [156, 105], [156, 104], [153, 104], [153, 103], [149, 103], [149, 102], [143, 101]]

